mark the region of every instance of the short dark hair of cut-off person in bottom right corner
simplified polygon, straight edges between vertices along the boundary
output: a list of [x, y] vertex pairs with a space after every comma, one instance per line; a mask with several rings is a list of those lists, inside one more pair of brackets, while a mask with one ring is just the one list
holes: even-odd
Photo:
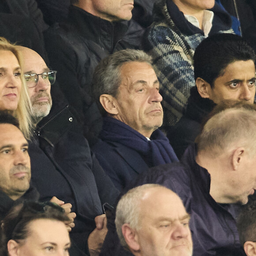
[[256, 241], [256, 201], [250, 200], [237, 218], [237, 229], [241, 245]]

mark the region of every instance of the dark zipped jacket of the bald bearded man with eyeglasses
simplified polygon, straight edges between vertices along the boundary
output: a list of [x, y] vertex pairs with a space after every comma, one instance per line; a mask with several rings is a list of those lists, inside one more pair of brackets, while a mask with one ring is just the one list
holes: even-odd
[[77, 217], [70, 235], [87, 252], [87, 238], [96, 227], [94, 218], [103, 214], [103, 203], [115, 202], [119, 192], [90, 153], [68, 106], [53, 110], [34, 133], [29, 145], [31, 178], [40, 200], [56, 196], [72, 203]]

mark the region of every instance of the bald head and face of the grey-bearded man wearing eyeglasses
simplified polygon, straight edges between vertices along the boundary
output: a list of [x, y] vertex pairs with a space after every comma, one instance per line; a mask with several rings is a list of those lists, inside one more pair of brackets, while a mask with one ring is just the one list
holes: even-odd
[[[45, 64], [42, 57], [35, 51], [18, 46], [19, 51], [22, 53], [24, 60], [24, 74], [38, 74], [48, 72], [49, 68]], [[29, 79], [26, 79], [27, 82]], [[35, 81], [31, 79], [31, 81]], [[51, 98], [51, 85], [48, 79], [43, 79], [42, 75], [38, 76], [38, 82], [31, 82], [28, 84], [28, 93], [32, 105], [32, 113], [34, 117], [34, 122], [37, 124], [43, 117], [46, 117], [52, 107]]]

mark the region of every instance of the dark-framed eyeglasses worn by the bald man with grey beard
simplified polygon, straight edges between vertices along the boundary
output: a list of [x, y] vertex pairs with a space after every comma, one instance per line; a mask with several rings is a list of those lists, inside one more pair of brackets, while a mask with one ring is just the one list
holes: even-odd
[[24, 74], [26, 85], [29, 88], [35, 87], [38, 84], [39, 75], [41, 75], [42, 79], [44, 79], [46, 84], [53, 85], [56, 80], [56, 73], [57, 72], [54, 70], [49, 70], [41, 74], [37, 74], [37, 73]]

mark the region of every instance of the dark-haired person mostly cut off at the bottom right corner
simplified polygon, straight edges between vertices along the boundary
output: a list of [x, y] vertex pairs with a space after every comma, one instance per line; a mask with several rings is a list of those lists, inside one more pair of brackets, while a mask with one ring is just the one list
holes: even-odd
[[241, 245], [247, 256], [256, 256], [256, 201], [252, 200], [237, 218]]

